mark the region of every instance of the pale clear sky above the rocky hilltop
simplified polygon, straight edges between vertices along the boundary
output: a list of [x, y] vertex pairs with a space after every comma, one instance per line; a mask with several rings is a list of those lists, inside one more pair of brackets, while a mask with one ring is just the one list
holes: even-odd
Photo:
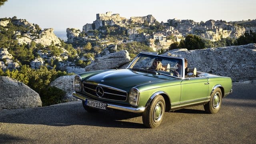
[[0, 6], [0, 18], [26, 19], [40, 28], [82, 30], [96, 14], [112, 12], [129, 19], [152, 14], [158, 22], [168, 19], [254, 20], [256, 0], [8, 0]]

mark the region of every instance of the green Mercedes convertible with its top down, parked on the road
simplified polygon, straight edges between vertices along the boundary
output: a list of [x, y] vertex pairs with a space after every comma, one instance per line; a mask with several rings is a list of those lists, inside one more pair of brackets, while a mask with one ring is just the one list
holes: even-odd
[[232, 92], [229, 77], [186, 68], [184, 58], [139, 53], [126, 69], [84, 72], [74, 77], [73, 96], [84, 109], [116, 109], [142, 113], [143, 124], [154, 128], [164, 112], [202, 104], [208, 113], [220, 110]]

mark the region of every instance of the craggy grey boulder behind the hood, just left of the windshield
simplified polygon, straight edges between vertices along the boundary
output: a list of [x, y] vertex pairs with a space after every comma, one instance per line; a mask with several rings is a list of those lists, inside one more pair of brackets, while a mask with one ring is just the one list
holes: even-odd
[[130, 56], [127, 50], [104, 55], [95, 58], [95, 60], [84, 69], [86, 72], [93, 70], [115, 69], [130, 62]]

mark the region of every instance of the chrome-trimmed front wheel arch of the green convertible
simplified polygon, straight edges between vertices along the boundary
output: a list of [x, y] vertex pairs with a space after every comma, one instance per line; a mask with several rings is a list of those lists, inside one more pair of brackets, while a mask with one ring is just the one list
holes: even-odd
[[165, 101], [165, 111], [168, 112], [171, 109], [171, 102], [170, 102], [170, 98], [168, 96], [168, 94], [164, 91], [158, 91], [155, 92], [154, 94], [152, 94], [152, 96], [150, 96], [150, 98], [148, 99], [148, 102], [146, 103], [145, 108], [147, 108], [147, 106], [150, 104], [150, 102], [152, 102], [152, 100], [157, 96], [157, 95], [161, 95], [164, 98]]

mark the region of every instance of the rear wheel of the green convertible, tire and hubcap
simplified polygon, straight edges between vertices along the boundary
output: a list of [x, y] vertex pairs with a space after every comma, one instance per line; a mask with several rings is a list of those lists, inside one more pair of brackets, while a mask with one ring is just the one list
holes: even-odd
[[204, 110], [209, 114], [216, 114], [220, 110], [222, 102], [222, 92], [216, 88], [211, 95], [210, 101], [204, 105]]

